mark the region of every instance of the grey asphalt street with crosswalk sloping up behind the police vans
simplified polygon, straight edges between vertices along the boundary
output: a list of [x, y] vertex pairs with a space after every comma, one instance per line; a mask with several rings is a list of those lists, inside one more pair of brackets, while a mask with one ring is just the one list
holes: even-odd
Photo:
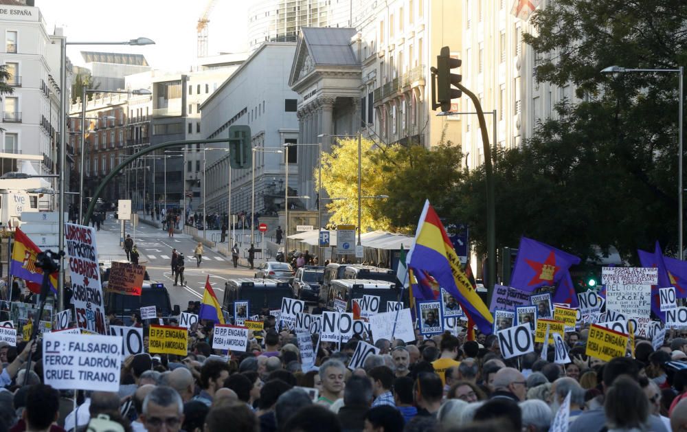
[[[126, 224], [126, 234], [131, 234], [140, 253], [139, 264], [146, 266], [151, 280], [163, 282], [170, 293], [172, 306], [178, 304], [181, 310], [185, 310], [191, 300], [199, 301], [203, 297], [205, 279], [210, 275], [210, 284], [214, 288], [215, 295], [221, 303], [224, 297], [224, 283], [226, 280], [236, 277], [253, 277], [254, 271], [239, 262], [237, 269], [232, 266], [231, 258], [204, 247], [203, 262], [196, 266], [193, 251], [197, 242], [186, 234], [174, 234], [170, 238], [166, 231], [155, 229], [148, 225], [139, 225], [136, 230]], [[111, 260], [126, 260], [124, 249], [119, 246], [120, 223], [108, 218], [101, 225], [100, 231], [96, 231], [98, 242], [98, 255], [100, 262]], [[172, 249], [183, 253], [185, 257], [185, 271], [183, 273], [186, 286], [173, 286], [174, 277], [170, 267]]]

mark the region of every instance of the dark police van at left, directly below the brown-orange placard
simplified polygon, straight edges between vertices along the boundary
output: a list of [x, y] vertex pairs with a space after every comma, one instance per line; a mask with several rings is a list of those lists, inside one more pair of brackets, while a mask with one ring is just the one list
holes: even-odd
[[165, 323], [169, 323], [170, 319], [179, 319], [181, 314], [178, 304], [172, 308], [170, 294], [162, 282], [144, 280], [141, 295], [113, 293], [107, 290], [106, 284], [103, 286], [103, 292], [106, 313], [114, 313], [117, 318], [124, 321], [124, 326], [131, 326], [131, 315], [140, 314], [142, 306], [155, 306]]

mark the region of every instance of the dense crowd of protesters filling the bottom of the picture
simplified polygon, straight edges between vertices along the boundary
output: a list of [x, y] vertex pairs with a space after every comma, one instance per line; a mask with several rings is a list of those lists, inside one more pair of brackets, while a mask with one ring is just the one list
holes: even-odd
[[503, 359], [494, 335], [418, 334], [374, 341], [379, 354], [354, 370], [359, 340], [337, 349], [313, 334], [315, 367], [303, 370], [294, 332], [273, 316], [246, 352], [212, 350], [212, 325], [189, 330], [186, 356], [128, 356], [118, 393], [78, 391], [76, 404], [42, 384], [39, 343], [1, 346], [0, 432], [549, 431], [568, 395], [570, 431], [687, 430], [687, 339], [675, 330], [658, 350], [638, 337], [634, 358], [608, 362], [585, 356], [586, 328], [568, 332], [565, 365], [554, 350]]

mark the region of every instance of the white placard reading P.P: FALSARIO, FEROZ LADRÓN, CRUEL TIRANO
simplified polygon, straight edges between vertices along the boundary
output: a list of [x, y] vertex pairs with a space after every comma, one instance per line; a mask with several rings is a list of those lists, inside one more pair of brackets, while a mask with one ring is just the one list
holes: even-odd
[[122, 337], [43, 334], [43, 381], [58, 390], [120, 389]]

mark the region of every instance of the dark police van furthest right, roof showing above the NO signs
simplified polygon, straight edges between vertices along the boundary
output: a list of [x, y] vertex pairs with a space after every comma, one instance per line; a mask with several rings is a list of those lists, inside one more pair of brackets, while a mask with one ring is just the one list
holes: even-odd
[[[403, 298], [401, 294], [403, 293]], [[337, 279], [330, 281], [319, 291], [319, 299], [324, 301], [326, 310], [352, 311], [352, 300], [363, 299], [363, 295], [379, 296], [378, 312], [387, 312], [387, 302], [403, 302], [408, 305], [408, 290], [401, 290], [394, 282], [370, 279]]]

